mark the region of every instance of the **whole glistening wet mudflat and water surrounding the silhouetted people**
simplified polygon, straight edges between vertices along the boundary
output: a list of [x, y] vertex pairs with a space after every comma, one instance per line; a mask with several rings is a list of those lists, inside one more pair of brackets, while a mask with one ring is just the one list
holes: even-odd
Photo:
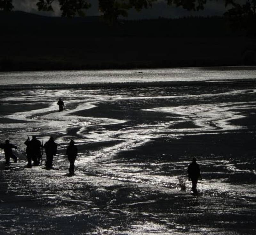
[[[19, 151], [27, 135], [58, 143], [52, 170], [27, 168], [20, 152], [5, 166], [1, 150], [1, 234], [256, 234], [255, 69], [194, 68], [191, 79], [188, 70], [161, 71], [108, 71], [108, 84], [52, 83], [52, 72], [40, 85], [24, 73], [1, 80], [1, 141]], [[72, 177], [71, 138], [79, 149]], [[197, 195], [178, 180], [194, 156]]]

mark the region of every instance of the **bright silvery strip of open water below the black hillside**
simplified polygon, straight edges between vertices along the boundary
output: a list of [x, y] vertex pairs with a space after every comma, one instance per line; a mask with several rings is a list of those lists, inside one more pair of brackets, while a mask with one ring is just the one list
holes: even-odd
[[0, 72], [0, 84], [85, 84], [253, 78], [255, 67]]

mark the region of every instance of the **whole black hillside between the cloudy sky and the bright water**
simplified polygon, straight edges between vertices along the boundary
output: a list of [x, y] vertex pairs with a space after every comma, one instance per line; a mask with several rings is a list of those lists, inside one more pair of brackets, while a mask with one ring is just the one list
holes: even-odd
[[253, 65], [255, 40], [226, 18], [122, 21], [0, 12], [1, 71]]

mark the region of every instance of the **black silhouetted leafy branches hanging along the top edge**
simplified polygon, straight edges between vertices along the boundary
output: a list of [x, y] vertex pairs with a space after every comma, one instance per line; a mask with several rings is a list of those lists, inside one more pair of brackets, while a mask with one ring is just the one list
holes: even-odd
[[[58, 1], [63, 17], [83, 16], [84, 11], [91, 7], [88, 0], [37, 0], [39, 11], [53, 11], [52, 3]], [[137, 11], [152, 7], [159, 0], [99, 0], [99, 11], [105, 20], [115, 21], [119, 16], [128, 16], [129, 9]], [[218, 1], [218, 0], [208, 0]], [[0, 10], [12, 11], [12, 0], [0, 0]], [[183, 7], [188, 11], [204, 9], [207, 0], [165, 0], [166, 4]], [[233, 25], [252, 29], [256, 21], [256, 0], [223, 0], [229, 10], [225, 13]]]

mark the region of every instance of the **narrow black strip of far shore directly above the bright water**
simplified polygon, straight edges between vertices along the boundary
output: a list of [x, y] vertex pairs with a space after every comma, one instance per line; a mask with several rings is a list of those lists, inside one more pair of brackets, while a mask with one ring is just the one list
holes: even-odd
[[[221, 56], [220, 56], [221, 57]], [[156, 58], [159, 59], [159, 58]], [[28, 72], [28, 71], [74, 71], [74, 70], [132, 70], [132, 69], [172, 69], [172, 68], [193, 68], [193, 67], [249, 67], [256, 66], [252, 61], [245, 61], [243, 56], [223, 60], [219, 58], [200, 58], [197, 60], [156, 60], [156, 61], [98, 61], [84, 62], [83, 59], [76, 62], [60, 62], [57, 60], [30, 61], [29, 58], [8, 58], [0, 60], [0, 72]]]

